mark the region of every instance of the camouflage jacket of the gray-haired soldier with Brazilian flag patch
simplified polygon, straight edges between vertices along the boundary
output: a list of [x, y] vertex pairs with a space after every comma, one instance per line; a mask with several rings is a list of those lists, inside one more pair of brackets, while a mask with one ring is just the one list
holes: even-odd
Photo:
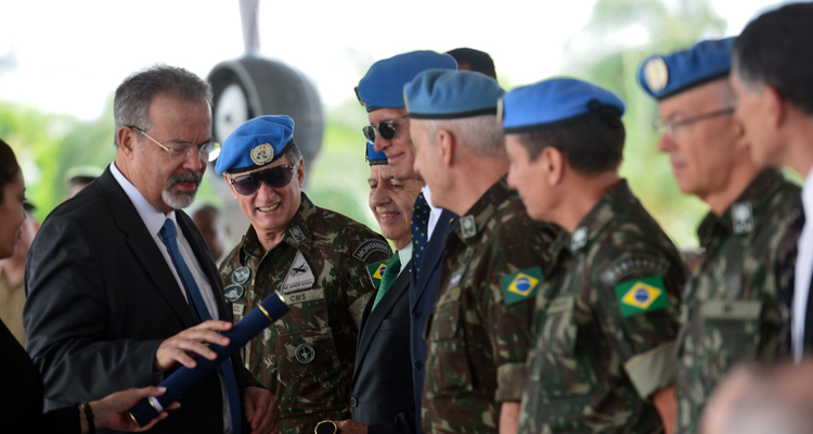
[[503, 178], [447, 234], [424, 331], [426, 433], [496, 433], [502, 401], [519, 401], [533, 298], [556, 231], [530, 220]]

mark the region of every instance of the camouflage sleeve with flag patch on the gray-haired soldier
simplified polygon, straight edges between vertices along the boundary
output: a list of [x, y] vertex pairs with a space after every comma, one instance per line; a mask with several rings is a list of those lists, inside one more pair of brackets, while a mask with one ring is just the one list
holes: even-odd
[[485, 302], [486, 327], [491, 331], [496, 367], [496, 401], [519, 401], [525, 388], [535, 296], [544, 280], [543, 264], [547, 263], [540, 250], [531, 243], [500, 245], [485, 282], [483, 294], [489, 295]]

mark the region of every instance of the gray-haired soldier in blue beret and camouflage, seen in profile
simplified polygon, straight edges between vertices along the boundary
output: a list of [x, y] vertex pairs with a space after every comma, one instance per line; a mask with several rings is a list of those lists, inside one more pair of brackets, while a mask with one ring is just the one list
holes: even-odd
[[528, 218], [508, 189], [496, 122], [503, 90], [483, 74], [430, 69], [404, 87], [415, 171], [435, 206], [461, 216], [446, 237], [428, 345], [427, 433], [516, 433], [533, 299], [558, 228]]

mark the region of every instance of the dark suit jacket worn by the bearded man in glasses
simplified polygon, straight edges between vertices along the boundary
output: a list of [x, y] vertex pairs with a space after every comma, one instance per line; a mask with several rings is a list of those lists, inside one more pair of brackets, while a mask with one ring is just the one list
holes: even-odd
[[[179, 228], [209, 280], [220, 319], [232, 321], [215, 260], [183, 212]], [[34, 240], [25, 272], [27, 350], [42, 373], [46, 397], [100, 399], [160, 382], [153, 370], [162, 341], [197, 323], [182, 290], [136, 207], [107, 168], [54, 209]], [[241, 397], [256, 385], [238, 355], [232, 363]], [[179, 400], [151, 432], [222, 433], [217, 373]]]

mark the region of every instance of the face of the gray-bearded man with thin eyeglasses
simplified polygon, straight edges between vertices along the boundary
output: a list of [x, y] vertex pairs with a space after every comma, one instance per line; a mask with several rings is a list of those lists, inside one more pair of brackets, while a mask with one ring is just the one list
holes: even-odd
[[[180, 101], [159, 93], [153, 97], [147, 113], [150, 129], [144, 132], [164, 146], [198, 149], [211, 142], [211, 111], [206, 101]], [[121, 127], [125, 128], [128, 127]], [[129, 149], [126, 175], [150, 204], [162, 213], [192, 204], [206, 161], [194, 153], [185, 161], [182, 155], [170, 158], [166, 150], [138, 129], [119, 137], [130, 138], [121, 143]]]

